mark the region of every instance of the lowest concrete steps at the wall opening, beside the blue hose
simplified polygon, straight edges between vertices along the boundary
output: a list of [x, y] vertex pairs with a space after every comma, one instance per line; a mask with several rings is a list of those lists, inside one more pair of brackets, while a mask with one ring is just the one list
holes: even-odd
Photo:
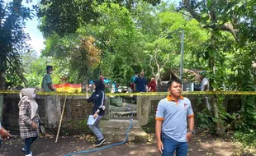
[[[141, 128], [138, 121], [133, 120], [132, 128], [129, 131], [129, 142], [148, 141], [147, 133]], [[126, 139], [126, 129], [130, 126], [130, 120], [109, 120], [101, 121], [102, 133], [107, 141], [121, 142]]]

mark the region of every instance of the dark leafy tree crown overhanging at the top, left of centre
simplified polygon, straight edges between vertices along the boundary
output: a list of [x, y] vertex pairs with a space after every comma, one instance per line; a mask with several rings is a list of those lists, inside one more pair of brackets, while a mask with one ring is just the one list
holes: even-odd
[[[93, 9], [93, 5], [100, 5], [103, 2], [108, 4], [114, 2], [129, 10], [137, 4], [135, 0], [42, 0], [37, 7], [37, 16], [41, 19], [40, 30], [47, 38], [54, 33], [59, 34], [59, 36], [73, 34], [83, 25], [96, 24], [99, 15]], [[145, 2], [156, 5], [160, 1], [145, 0]]]

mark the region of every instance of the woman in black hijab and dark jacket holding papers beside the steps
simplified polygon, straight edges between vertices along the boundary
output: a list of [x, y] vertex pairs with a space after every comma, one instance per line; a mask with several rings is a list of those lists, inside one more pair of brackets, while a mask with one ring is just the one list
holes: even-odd
[[104, 139], [104, 136], [102, 135], [102, 131], [99, 127], [100, 120], [102, 117], [105, 115], [105, 93], [104, 93], [104, 84], [102, 80], [95, 80], [93, 84], [93, 88], [95, 88], [95, 91], [92, 93], [91, 97], [87, 99], [87, 102], [93, 103], [93, 108], [92, 108], [92, 115], [93, 118], [96, 118], [96, 121], [94, 122], [93, 125], [89, 125], [89, 128], [92, 130], [94, 135], [97, 137], [97, 143], [96, 147], [99, 147], [101, 145], [106, 144], [106, 140]]

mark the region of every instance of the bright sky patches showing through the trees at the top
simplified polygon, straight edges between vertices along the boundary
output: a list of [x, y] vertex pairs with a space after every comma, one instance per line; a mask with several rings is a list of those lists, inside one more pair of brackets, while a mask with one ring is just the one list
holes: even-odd
[[[12, 0], [4, 0], [4, 2], [11, 2]], [[164, 2], [174, 2], [175, 4], [178, 4], [181, 0], [164, 0]], [[26, 3], [26, 0], [22, 1], [22, 5], [25, 7], [31, 7], [32, 5], [36, 5], [40, 0], [32, 0], [32, 2]], [[31, 40], [29, 41], [29, 44], [31, 44], [31, 48], [33, 48], [36, 53], [40, 55], [40, 51], [45, 48], [44, 41], [42, 33], [40, 30], [38, 30], [38, 18], [35, 16], [32, 20], [26, 21], [26, 28], [24, 31], [28, 33], [31, 36]]]

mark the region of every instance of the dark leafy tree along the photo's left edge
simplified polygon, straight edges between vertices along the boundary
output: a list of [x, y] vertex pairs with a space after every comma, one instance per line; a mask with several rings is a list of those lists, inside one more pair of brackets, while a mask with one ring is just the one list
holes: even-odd
[[21, 6], [22, 0], [5, 3], [0, 1], [0, 89], [5, 89], [6, 71], [16, 73], [27, 85], [21, 71], [21, 53], [29, 47], [26, 40], [29, 36], [24, 33], [24, 24], [31, 19], [32, 10]]

